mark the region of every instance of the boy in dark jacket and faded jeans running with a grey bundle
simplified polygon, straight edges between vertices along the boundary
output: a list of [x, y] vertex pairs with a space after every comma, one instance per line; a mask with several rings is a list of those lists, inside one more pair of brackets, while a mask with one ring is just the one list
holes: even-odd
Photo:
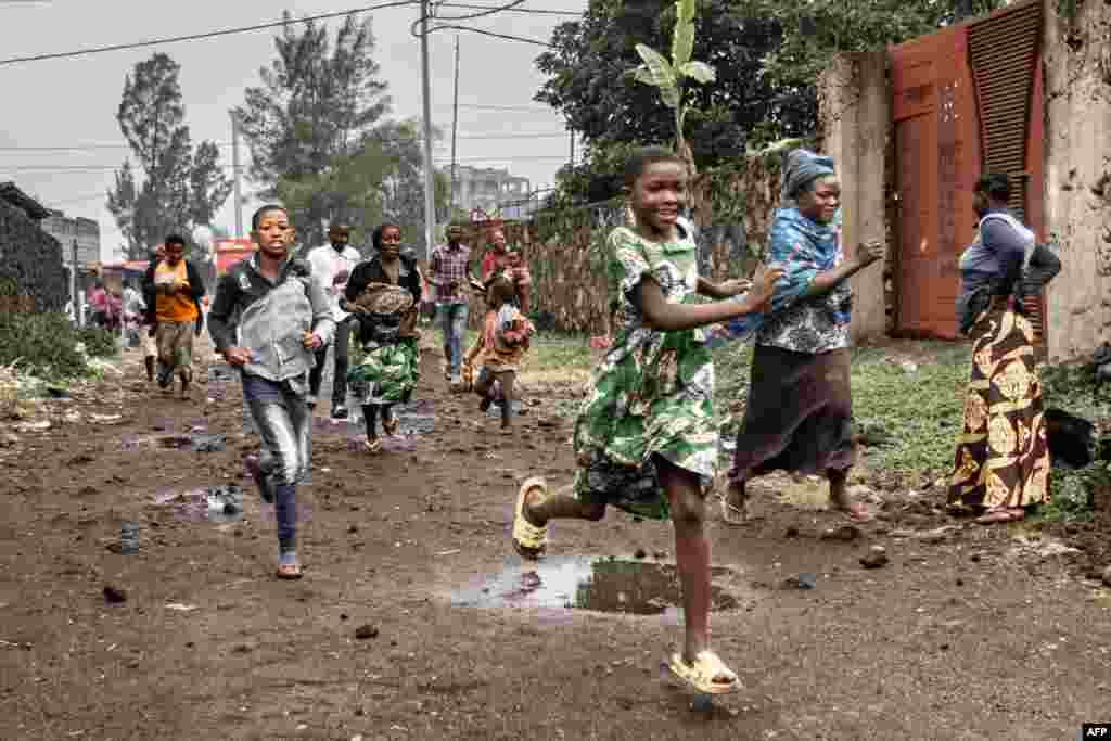
[[251, 237], [259, 251], [220, 279], [209, 311], [212, 342], [240, 369], [243, 400], [262, 438], [262, 455], [248, 467], [262, 498], [276, 502], [280, 579], [301, 578], [297, 483], [312, 452], [309, 371], [336, 330], [324, 288], [307, 263], [289, 259], [293, 234], [282, 207], [256, 211]]

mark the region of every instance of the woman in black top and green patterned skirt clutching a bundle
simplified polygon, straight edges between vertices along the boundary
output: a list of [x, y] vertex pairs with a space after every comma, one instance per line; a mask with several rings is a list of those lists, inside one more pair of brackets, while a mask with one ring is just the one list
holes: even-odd
[[364, 351], [362, 362], [348, 372], [348, 382], [361, 397], [367, 451], [377, 453], [382, 449], [379, 410], [382, 431], [396, 434], [393, 404], [407, 403], [417, 385], [422, 280], [417, 262], [401, 254], [400, 227], [382, 224], [372, 240], [378, 254], [351, 273], [343, 309], [357, 317], [358, 339]]

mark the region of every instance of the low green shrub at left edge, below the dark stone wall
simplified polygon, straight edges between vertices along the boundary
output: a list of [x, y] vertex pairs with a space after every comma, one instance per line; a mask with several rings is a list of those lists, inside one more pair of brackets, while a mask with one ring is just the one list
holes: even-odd
[[62, 313], [0, 314], [0, 366], [20, 372], [70, 379], [89, 372], [80, 338]]

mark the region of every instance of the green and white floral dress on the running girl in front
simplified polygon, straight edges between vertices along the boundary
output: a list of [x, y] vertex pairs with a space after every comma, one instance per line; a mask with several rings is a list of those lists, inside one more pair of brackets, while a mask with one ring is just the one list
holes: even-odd
[[593, 390], [574, 428], [575, 497], [642, 518], [665, 520], [667, 495], [654, 457], [713, 481], [718, 430], [713, 421], [713, 361], [701, 329], [662, 332], [645, 326], [632, 297], [651, 276], [670, 303], [693, 303], [698, 291], [693, 230], [650, 242], [620, 227], [607, 244], [615, 294], [614, 338], [592, 378]]

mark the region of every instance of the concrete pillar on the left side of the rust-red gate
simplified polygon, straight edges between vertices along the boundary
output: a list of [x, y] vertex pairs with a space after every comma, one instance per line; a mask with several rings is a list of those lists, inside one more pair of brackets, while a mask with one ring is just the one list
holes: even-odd
[[[891, 247], [885, 208], [891, 109], [887, 52], [839, 54], [819, 81], [819, 119], [825, 153], [841, 177], [842, 238], [847, 257], [855, 246], [881, 240]], [[853, 340], [888, 330], [884, 273], [889, 260], [852, 278]]]

